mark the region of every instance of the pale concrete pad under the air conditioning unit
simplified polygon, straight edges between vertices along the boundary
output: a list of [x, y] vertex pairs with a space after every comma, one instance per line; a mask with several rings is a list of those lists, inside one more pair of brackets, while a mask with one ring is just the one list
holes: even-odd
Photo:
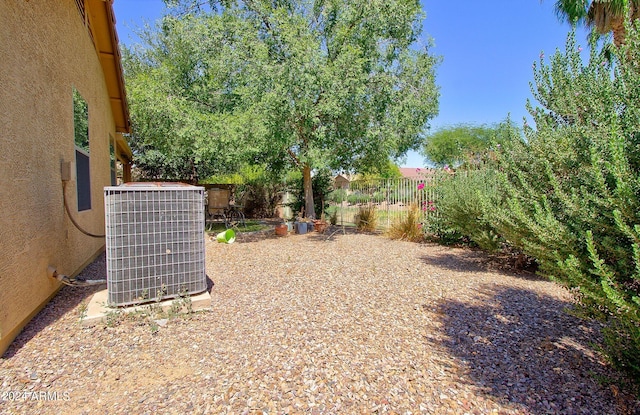
[[[201, 294], [192, 295], [190, 296], [190, 298], [193, 311], [200, 311], [211, 308], [211, 294], [209, 294], [208, 291], [205, 291]], [[163, 311], [167, 311], [171, 308], [173, 302], [179, 299], [180, 297], [175, 297], [168, 298], [160, 302], [150, 302], [137, 306], [107, 307], [107, 290], [104, 289], [102, 291], [98, 291], [93, 295], [93, 297], [91, 297], [91, 301], [89, 301], [89, 305], [87, 306], [87, 314], [82, 319], [80, 324], [82, 326], [94, 326], [105, 321], [107, 318], [107, 314], [113, 313], [114, 311], [132, 313], [144, 310], [144, 308], [148, 307], [149, 305], [153, 305], [154, 307], [158, 306], [161, 307]]]

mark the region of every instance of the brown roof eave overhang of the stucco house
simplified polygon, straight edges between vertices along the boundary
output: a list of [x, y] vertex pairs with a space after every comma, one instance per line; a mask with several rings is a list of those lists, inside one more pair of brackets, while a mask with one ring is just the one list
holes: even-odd
[[[88, 15], [85, 15], [85, 24], [89, 27], [96, 52], [100, 58], [111, 101], [111, 111], [116, 123], [116, 132], [130, 133], [129, 106], [124, 87], [124, 72], [118, 47], [113, 0], [87, 0], [86, 6]], [[116, 134], [115, 139], [119, 153], [128, 156], [131, 160], [131, 149], [122, 134]]]

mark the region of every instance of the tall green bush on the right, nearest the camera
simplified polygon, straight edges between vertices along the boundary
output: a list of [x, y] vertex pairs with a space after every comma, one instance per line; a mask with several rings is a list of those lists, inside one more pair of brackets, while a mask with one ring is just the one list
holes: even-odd
[[[495, 226], [603, 319], [604, 350], [640, 379], [640, 36], [534, 64], [535, 129], [499, 153]], [[605, 51], [613, 50], [613, 53]]]

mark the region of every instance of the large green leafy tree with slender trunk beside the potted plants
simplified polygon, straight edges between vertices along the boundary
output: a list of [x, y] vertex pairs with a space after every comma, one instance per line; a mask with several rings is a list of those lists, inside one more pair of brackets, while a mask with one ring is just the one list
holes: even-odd
[[314, 169], [363, 170], [419, 146], [437, 113], [438, 59], [418, 44], [418, 1], [202, 3], [167, 1], [171, 14], [148, 48], [129, 54], [129, 67], [157, 76], [162, 90], [140, 109], [179, 103], [180, 138], [200, 160], [226, 148], [292, 165], [314, 217]]

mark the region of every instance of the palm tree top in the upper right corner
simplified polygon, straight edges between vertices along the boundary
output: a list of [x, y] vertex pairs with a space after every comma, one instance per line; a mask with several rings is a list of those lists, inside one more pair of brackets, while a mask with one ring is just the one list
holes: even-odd
[[613, 32], [616, 46], [625, 41], [626, 18], [640, 18], [640, 0], [557, 0], [555, 9], [562, 20], [583, 23], [600, 34]]

